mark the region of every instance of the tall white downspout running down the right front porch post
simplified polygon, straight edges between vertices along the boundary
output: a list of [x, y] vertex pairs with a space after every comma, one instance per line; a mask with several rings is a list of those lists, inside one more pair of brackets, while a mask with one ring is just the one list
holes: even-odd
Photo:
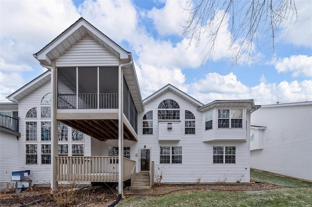
[[118, 66], [118, 197], [123, 196], [123, 71], [122, 67], [132, 64], [132, 60], [128, 63]]

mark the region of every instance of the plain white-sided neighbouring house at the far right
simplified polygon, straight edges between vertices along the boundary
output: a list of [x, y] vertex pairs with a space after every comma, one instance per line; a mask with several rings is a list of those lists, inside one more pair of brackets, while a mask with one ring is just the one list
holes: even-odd
[[312, 102], [263, 105], [251, 122], [252, 168], [312, 181]]

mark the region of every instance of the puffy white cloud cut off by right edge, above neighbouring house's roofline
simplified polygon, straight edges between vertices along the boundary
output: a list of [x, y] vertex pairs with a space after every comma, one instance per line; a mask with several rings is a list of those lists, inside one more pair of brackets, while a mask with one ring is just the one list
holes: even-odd
[[312, 77], [312, 56], [292, 55], [273, 62], [278, 72], [292, 72], [294, 77], [305, 75]]

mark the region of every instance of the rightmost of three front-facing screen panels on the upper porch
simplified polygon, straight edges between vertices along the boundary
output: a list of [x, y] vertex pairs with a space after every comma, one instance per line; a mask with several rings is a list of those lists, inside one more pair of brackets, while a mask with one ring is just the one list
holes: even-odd
[[118, 67], [99, 68], [99, 108], [118, 108]]

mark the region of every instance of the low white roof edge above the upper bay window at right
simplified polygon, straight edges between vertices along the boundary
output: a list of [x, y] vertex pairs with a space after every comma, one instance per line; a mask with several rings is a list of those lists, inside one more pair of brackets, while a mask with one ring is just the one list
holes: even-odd
[[254, 105], [254, 100], [215, 100], [209, 104], [206, 104], [198, 111], [206, 111], [214, 107], [246, 107], [248, 111], [255, 111], [261, 107], [261, 105]]

